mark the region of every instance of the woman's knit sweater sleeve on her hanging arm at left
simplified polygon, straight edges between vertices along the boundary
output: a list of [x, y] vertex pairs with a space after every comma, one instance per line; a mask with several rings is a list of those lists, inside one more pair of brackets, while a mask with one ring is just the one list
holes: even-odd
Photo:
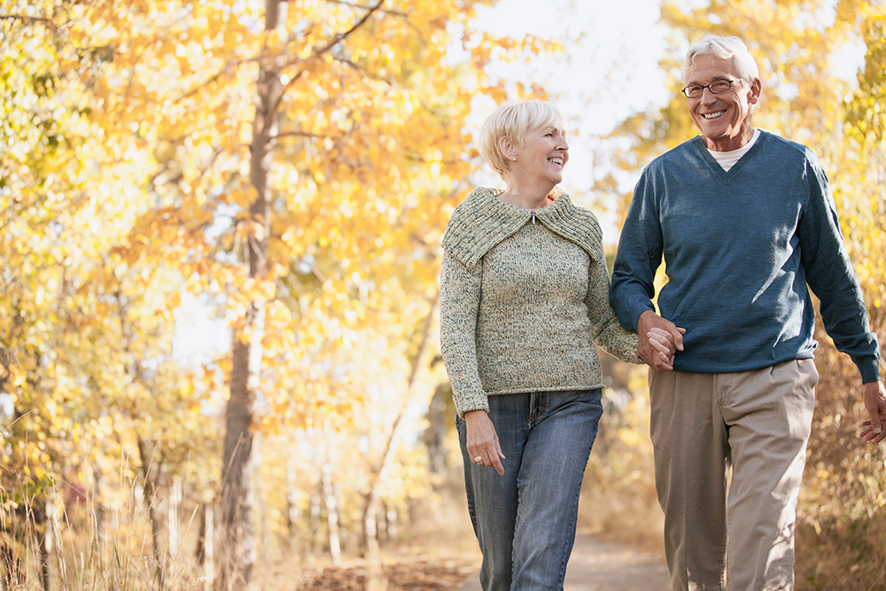
[[449, 253], [440, 268], [440, 354], [452, 384], [455, 412], [489, 410], [477, 368], [477, 314], [483, 261], [466, 267]]

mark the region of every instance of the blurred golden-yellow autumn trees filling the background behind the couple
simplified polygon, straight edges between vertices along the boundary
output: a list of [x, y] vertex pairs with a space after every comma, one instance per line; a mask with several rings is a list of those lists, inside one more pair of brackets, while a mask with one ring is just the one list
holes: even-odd
[[[0, 0], [0, 588], [239, 589], [353, 556], [383, 587], [379, 545], [470, 553], [439, 240], [482, 176], [478, 104], [556, 86], [496, 68], [569, 41], [476, 28], [490, 4]], [[685, 47], [741, 35], [755, 125], [824, 161], [883, 342], [882, 3], [661, 11], [667, 99], [577, 138], [597, 146], [579, 202], [626, 209], [641, 167], [696, 134]], [[847, 48], [856, 81], [836, 75]], [[857, 437], [857, 371], [820, 343], [798, 588], [875, 587], [883, 450]], [[582, 525], [655, 548], [645, 372], [604, 362]]]

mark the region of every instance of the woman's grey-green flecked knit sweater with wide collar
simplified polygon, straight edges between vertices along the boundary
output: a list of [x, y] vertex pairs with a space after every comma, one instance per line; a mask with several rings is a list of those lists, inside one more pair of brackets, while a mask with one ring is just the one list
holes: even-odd
[[594, 214], [559, 189], [534, 211], [501, 192], [472, 191], [443, 237], [440, 351], [458, 416], [488, 410], [487, 395], [602, 387], [595, 343], [642, 363], [610, 307]]

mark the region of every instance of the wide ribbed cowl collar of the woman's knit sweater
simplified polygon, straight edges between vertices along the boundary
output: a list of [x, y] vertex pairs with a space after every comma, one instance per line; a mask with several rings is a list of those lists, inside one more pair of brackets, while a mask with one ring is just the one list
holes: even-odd
[[594, 214], [572, 204], [559, 187], [550, 192], [554, 202], [540, 209], [521, 209], [498, 198], [501, 189], [480, 187], [455, 207], [443, 237], [443, 250], [470, 268], [491, 248], [535, 220], [574, 242], [592, 258], [602, 256], [602, 232]]

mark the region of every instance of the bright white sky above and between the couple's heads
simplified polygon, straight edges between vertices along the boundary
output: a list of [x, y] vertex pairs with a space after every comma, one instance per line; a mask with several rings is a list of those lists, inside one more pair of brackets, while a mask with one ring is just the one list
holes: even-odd
[[[543, 8], [529, 0], [500, 0], [480, 12], [476, 21], [478, 28], [494, 34], [532, 34], [565, 45], [561, 54], [536, 58], [528, 66], [502, 65], [494, 72], [527, 86], [539, 82], [571, 119], [570, 160], [563, 169], [563, 186], [579, 203], [590, 203], [592, 167], [601, 165], [592, 159], [595, 136], [667, 98], [664, 72], [658, 67], [666, 51], [658, 17], [658, 0], [548, 0]], [[479, 128], [495, 105], [486, 101], [476, 107], [477, 121], [470, 122], [471, 128]], [[501, 179], [487, 169], [478, 176], [478, 183], [501, 186]], [[605, 224], [606, 212], [595, 213]]]

